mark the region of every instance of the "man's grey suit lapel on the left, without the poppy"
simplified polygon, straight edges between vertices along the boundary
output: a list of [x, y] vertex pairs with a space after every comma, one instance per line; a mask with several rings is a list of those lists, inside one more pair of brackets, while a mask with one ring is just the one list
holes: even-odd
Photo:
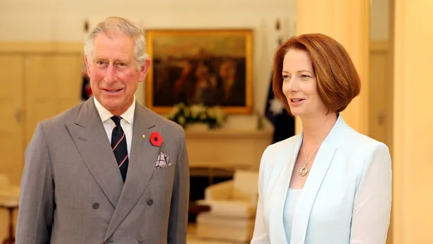
[[91, 175], [116, 207], [123, 180], [93, 98], [82, 105], [76, 121], [67, 123], [67, 129]]

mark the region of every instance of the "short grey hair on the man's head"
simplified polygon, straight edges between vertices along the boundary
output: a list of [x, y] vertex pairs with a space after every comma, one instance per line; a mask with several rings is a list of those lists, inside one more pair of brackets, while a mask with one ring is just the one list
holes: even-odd
[[143, 30], [134, 22], [122, 17], [109, 17], [100, 22], [87, 37], [85, 44], [85, 55], [87, 60], [94, 51], [94, 40], [96, 35], [104, 33], [105, 35], [116, 35], [116, 33], [123, 33], [134, 39], [134, 55], [139, 71], [143, 66], [148, 54], [145, 52], [145, 38]]

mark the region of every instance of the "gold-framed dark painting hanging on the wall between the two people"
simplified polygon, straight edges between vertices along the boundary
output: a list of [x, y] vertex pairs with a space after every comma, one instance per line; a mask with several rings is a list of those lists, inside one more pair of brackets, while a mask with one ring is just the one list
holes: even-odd
[[178, 103], [251, 113], [252, 38], [247, 29], [146, 31], [146, 106], [160, 114]]

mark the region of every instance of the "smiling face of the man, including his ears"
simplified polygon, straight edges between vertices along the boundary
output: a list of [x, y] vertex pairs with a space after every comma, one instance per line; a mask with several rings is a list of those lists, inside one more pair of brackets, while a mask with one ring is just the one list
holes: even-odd
[[91, 91], [96, 100], [113, 115], [120, 116], [134, 102], [134, 94], [143, 81], [150, 60], [141, 70], [134, 56], [134, 40], [122, 33], [100, 33], [94, 40], [94, 49], [85, 57]]

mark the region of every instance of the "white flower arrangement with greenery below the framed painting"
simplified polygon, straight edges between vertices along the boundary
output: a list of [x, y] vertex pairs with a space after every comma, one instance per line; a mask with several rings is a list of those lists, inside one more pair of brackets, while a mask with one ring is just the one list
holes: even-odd
[[182, 125], [183, 128], [191, 123], [207, 123], [210, 128], [219, 128], [226, 119], [220, 107], [206, 107], [200, 104], [186, 106], [184, 103], [175, 105], [165, 117]]

